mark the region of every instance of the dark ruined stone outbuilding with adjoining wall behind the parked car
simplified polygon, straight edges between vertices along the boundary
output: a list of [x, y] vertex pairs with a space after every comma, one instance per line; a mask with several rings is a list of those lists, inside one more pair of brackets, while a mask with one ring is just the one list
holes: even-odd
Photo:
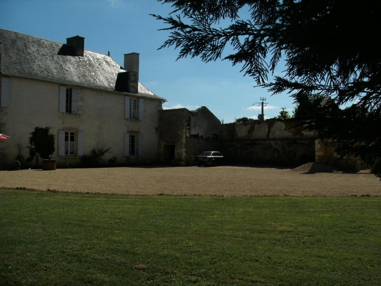
[[300, 165], [315, 161], [313, 132], [294, 120], [221, 124], [208, 108], [159, 111], [159, 157], [190, 165], [203, 151], [221, 151], [231, 164]]

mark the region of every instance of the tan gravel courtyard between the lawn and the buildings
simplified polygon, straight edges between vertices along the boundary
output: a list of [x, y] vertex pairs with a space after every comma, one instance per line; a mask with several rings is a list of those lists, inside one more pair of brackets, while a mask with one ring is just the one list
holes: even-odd
[[304, 174], [270, 167], [120, 167], [0, 171], [0, 187], [117, 194], [381, 196], [368, 172]]

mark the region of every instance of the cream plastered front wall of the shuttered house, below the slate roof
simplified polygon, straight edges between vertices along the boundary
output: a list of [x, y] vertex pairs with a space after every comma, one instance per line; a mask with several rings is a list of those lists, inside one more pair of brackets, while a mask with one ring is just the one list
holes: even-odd
[[[51, 128], [56, 148], [52, 159], [58, 166], [80, 163], [78, 156], [58, 156], [58, 130], [83, 131], [85, 155], [90, 155], [93, 148], [112, 148], [112, 153], [102, 157], [105, 162], [112, 157], [117, 157], [119, 164], [157, 162], [155, 127], [161, 101], [145, 98], [144, 119], [125, 119], [123, 94], [78, 89], [78, 114], [62, 113], [58, 108], [59, 84], [11, 77], [10, 106], [0, 108], [0, 127], [11, 137], [2, 143], [3, 165], [13, 163], [19, 150], [25, 159], [29, 157], [28, 138], [36, 126]], [[143, 135], [143, 156], [125, 157], [124, 134], [134, 132]]]

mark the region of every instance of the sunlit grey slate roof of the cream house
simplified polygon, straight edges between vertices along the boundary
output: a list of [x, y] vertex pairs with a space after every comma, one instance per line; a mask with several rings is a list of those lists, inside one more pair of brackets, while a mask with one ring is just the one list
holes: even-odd
[[[19, 32], [0, 29], [0, 72], [6, 76], [43, 80], [64, 85], [114, 92], [119, 72], [110, 56], [84, 50], [70, 55], [70, 46]], [[165, 101], [139, 82], [138, 96]]]

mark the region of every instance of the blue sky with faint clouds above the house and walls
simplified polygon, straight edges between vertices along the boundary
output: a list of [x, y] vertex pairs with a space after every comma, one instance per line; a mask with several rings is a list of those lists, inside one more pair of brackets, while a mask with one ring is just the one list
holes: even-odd
[[[265, 97], [266, 118], [278, 115], [282, 107], [291, 114], [292, 98], [253, 87], [256, 83], [243, 76], [241, 66], [199, 58], [176, 61], [177, 50], [157, 50], [169, 32], [157, 31], [165, 25], [149, 14], [166, 16], [172, 10], [156, 0], [0, 0], [0, 27], [61, 43], [80, 35], [86, 49], [110, 51], [122, 66], [123, 54], [140, 53], [139, 81], [168, 100], [163, 108], [207, 106], [228, 123], [235, 117], [256, 119], [260, 107], [252, 104]], [[274, 75], [283, 70], [277, 67]]]

